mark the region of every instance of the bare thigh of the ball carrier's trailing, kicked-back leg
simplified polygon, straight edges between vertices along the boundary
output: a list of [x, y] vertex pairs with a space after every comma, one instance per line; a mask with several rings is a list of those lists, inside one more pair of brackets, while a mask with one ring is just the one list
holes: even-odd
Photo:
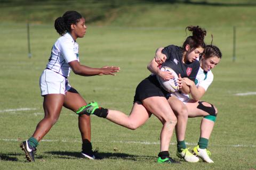
[[142, 105], [142, 103], [136, 101], [133, 104], [129, 120], [139, 127], [144, 124], [150, 116], [151, 113]]

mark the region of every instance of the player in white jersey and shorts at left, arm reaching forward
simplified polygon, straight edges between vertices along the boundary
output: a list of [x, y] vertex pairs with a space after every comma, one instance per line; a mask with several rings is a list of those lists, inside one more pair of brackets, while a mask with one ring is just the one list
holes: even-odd
[[62, 17], [55, 20], [54, 27], [60, 38], [52, 47], [49, 62], [40, 77], [41, 95], [44, 97], [44, 118], [36, 127], [34, 134], [20, 145], [25, 151], [29, 162], [34, 162], [34, 154], [38, 142], [50, 131], [57, 122], [62, 106], [76, 112], [78, 126], [82, 137], [82, 157], [95, 159], [91, 145], [90, 116], [79, 114], [86, 110], [86, 101], [68, 83], [68, 76], [72, 69], [75, 74], [82, 76], [115, 75], [119, 67], [105, 66], [92, 68], [79, 63], [77, 38], [82, 38], [86, 32], [85, 19], [76, 11], [67, 11]]

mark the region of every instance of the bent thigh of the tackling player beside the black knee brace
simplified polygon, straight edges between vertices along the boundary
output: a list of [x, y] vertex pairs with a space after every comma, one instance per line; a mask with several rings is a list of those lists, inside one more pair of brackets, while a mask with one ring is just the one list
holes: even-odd
[[[188, 108], [188, 117], [198, 117], [198, 116], [207, 116], [209, 115], [208, 112], [206, 112], [205, 109], [202, 109], [199, 106], [199, 102], [202, 101], [195, 101], [195, 100], [189, 100], [188, 103], [186, 103], [186, 106]], [[212, 108], [215, 112], [217, 112], [217, 108], [215, 108], [210, 103], [207, 103], [206, 101], [202, 102], [202, 106]]]

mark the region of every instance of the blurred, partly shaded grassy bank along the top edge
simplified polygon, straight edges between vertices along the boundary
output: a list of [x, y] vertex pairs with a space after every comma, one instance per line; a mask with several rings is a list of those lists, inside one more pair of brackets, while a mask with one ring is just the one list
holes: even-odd
[[0, 1], [0, 20], [53, 23], [67, 10], [81, 12], [87, 24], [125, 27], [253, 26], [255, 1], [129, 0], [129, 1]]

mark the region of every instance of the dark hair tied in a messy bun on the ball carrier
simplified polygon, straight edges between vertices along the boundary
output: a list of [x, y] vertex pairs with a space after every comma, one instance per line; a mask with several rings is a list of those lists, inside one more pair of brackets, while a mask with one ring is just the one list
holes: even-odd
[[198, 47], [205, 48], [204, 37], [206, 36], [206, 30], [197, 26], [188, 26], [187, 29], [192, 32], [192, 36], [187, 37], [182, 45], [183, 52], [186, 51], [186, 45], [189, 45], [190, 49], [193, 50]]

